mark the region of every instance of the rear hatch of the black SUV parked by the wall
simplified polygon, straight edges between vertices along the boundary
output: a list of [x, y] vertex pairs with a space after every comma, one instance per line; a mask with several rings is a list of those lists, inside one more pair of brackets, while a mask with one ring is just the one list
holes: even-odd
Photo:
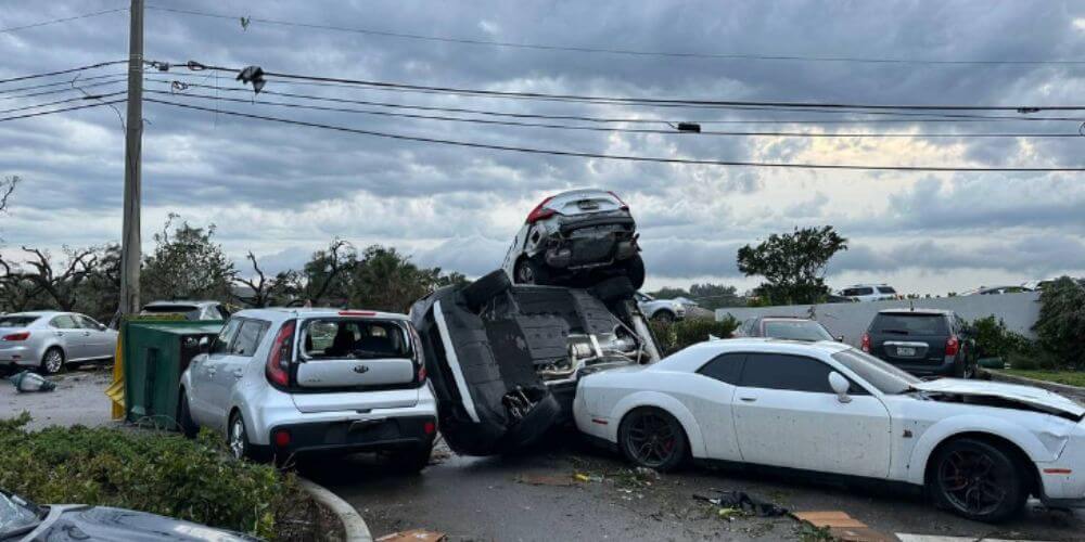
[[941, 313], [882, 312], [870, 323], [870, 353], [890, 362], [943, 363], [948, 338]]

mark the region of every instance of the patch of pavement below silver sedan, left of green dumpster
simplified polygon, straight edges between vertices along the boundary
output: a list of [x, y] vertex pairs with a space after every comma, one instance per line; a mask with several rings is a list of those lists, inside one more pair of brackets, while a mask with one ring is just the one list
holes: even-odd
[[[113, 367], [87, 364], [68, 370], [49, 379], [56, 384], [53, 391], [20, 393], [11, 382], [0, 378], [0, 417], [29, 412], [30, 429], [49, 425], [98, 426], [110, 423], [110, 398], [105, 388], [113, 382]], [[0, 375], [5, 376], [5, 375]]]

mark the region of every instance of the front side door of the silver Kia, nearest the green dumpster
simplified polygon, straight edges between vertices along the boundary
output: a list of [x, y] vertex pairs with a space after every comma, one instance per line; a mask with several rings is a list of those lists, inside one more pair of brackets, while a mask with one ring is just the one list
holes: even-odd
[[217, 375], [229, 363], [230, 348], [243, 319], [231, 319], [210, 344], [206, 356], [193, 358], [189, 365], [192, 389], [189, 391], [189, 411], [200, 425], [225, 427], [226, 408], [221, 404], [221, 384]]

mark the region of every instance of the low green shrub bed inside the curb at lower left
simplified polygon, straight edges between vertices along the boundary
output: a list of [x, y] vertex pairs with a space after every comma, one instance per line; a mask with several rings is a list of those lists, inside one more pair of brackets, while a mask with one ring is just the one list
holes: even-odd
[[0, 420], [0, 488], [39, 503], [132, 508], [275, 539], [308, 500], [293, 475], [239, 462], [221, 438]]

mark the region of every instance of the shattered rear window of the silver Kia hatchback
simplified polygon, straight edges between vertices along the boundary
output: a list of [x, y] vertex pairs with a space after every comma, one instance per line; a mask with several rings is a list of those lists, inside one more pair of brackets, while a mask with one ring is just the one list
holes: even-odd
[[410, 358], [410, 335], [395, 321], [317, 319], [305, 326], [303, 359]]

